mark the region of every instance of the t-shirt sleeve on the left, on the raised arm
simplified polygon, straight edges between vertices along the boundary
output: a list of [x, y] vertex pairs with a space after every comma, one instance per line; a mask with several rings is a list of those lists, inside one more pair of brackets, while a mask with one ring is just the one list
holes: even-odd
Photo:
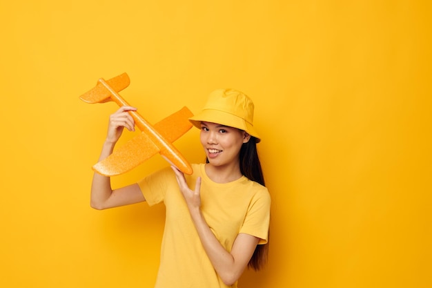
[[152, 206], [164, 201], [167, 189], [167, 183], [170, 177], [175, 177], [173, 170], [170, 167], [161, 169], [152, 173], [143, 179], [139, 180], [137, 184], [143, 193], [146, 202]]

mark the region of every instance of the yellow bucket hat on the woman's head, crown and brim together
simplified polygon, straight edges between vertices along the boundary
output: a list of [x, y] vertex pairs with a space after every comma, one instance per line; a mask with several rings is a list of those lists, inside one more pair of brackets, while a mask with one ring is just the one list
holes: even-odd
[[197, 128], [201, 122], [212, 122], [239, 128], [249, 135], [259, 139], [257, 131], [253, 128], [253, 102], [244, 93], [234, 89], [217, 89], [208, 95], [203, 110], [190, 117], [189, 121]]

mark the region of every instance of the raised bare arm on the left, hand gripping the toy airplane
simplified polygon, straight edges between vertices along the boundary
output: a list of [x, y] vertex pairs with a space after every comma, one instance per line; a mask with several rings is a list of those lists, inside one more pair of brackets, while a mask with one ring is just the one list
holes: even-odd
[[[135, 124], [128, 111], [136, 111], [136, 108], [123, 106], [114, 114], [110, 115], [108, 134], [102, 147], [99, 161], [104, 160], [114, 150], [114, 146], [119, 140], [123, 129], [135, 130]], [[90, 193], [90, 206], [94, 209], [107, 209], [119, 207], [126, 204], [133, 204], [145, 201], [138, 184], [124, 186], [120, 189], [112, 190], [110, 177], [95, 173], [92, 180]]]

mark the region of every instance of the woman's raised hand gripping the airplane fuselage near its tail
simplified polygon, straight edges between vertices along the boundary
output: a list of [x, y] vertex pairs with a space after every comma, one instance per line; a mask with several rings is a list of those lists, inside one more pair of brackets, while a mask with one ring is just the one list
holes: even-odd
[[124, 128], [128, 129], [128, 131], [135, 131], [135, 121], [128, 111], [137, 111], [137, 108], [121, 106], [119, 110], [110, 115], [106, 142], [117, 143]]

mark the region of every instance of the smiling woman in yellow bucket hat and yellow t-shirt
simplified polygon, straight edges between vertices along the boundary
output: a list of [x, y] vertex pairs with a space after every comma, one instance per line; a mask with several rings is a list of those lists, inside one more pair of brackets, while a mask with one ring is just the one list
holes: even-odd
[[[270, 195], [264, 186], [253, 127], [253, 102], [233, 89], [215, 90], [204, 110], [189, 120], [201, 129], [206, 164], [193, 175], [174, 166], [112, 190], [95, 173], [91, 206], [107, 209], [146, 201], [166, 205], [166, 226], [155, 287], [237, 287], [244, 269], [266, 260]], [[100, 160], [134, 122], [124, 106], [110, 116]]]

